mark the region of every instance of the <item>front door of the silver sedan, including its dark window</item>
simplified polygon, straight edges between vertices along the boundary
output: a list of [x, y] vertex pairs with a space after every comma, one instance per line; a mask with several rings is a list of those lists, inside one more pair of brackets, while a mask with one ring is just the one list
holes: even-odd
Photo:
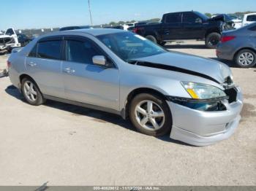
[[118, 110], [118, 69], [114, 65], [111, 68], [94, 65], [94, 55], [105, 55], [105, 52], [91, 39], [82, 36], [65, 36], [64, 39], [66, 61], [63, 72], [67, 99]]

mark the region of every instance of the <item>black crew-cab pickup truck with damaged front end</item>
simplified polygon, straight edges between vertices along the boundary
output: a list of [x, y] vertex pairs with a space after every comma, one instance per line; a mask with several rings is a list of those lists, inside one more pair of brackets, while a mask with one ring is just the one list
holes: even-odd
[[191, 11], [167, 13], [161, 23], [137, 26], [133, 32], [161, 45], [173, 40], [205, 39], [208, 48], [215, 48], [224, 28], [223, 17], [208, 18]]

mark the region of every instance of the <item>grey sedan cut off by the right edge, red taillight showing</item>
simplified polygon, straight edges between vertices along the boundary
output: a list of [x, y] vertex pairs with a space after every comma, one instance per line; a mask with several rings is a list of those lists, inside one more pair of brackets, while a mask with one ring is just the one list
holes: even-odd
[[234, 61], [236, 66], [249, 68], [256, 63], [256, 23], [222, 33], [217, 45], [217, 57]]

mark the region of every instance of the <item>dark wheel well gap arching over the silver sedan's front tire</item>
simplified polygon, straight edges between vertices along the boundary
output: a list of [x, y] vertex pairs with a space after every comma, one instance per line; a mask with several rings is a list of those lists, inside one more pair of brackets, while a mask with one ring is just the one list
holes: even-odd
[[121, 115], [124, 119], [127, 119], [129, 117], [129, 105], [130, 105], [132, 99], [135, 98], [135, 96], [140, 93], [150, 93], [150, 94], [159, 96], [163, 100], [167, 100], [166, 96], [164, 94], [160, 93], [158, 90], [154, 90], [154, 89], [147, 88], [147, 87], [141, 87], [141, 88], [132, 90], [132, 92], [129, 93], [129, 95], [127, 96], [127, 100], [125, 102], [125, 107], [124, 107], [124, 109], [122, 109], [122, 112], [121, 112]]

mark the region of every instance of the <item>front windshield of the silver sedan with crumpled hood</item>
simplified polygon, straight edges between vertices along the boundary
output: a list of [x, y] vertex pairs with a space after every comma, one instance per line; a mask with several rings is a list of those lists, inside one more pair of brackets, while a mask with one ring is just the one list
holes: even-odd
[[104, 34], [97, 38], [126, 62], [167, 52], [148, 39], [129, 32]]

